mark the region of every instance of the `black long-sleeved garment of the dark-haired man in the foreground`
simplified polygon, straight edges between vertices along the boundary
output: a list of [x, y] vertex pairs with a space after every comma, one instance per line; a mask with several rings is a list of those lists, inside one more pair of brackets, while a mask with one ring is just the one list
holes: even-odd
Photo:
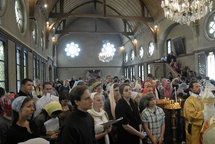
[[60, 134], [61, 144], [95, 144], [94, 120], [88, 112], [75, 109], [66, 118]]

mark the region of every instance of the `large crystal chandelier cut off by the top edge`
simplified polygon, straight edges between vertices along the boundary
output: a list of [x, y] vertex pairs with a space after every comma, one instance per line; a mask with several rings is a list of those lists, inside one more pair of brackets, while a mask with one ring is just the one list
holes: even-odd
[[211, 0], [162, 0], [161, 7], [167, 19], [190, 25], [212, 10]]

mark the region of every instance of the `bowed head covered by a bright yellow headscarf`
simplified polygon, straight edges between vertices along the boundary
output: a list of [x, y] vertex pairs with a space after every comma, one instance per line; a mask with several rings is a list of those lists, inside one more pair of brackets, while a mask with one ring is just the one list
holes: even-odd
[[45, 105], [43, 109], [47, 112], [49, 117], [55, 118], [61, 113], [62, 106], [59, 102], [54, 101]]

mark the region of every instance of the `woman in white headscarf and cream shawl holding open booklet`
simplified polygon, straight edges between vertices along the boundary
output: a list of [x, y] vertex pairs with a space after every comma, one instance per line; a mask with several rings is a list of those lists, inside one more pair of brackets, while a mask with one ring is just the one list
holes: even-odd
[[104, 127], [101, 125], [108, 121], [107, 113], [102, 109], [102, 95], [94, 92], [91, 94], [91, 98], [93, 100], [93, 107], [88, 110], [88, 113], [93, 117], [95, 122], [95, 137], [97, 144], [110, 144], [108, 133], [111, 131], [111, 127]]

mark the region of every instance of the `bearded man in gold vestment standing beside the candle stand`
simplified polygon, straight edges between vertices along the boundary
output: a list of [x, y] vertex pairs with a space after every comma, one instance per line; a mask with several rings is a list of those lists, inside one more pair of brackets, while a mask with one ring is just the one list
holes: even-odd
[[204, 105], [201, 101], [200, 85], [190, 83], [190, 97], [184, 104], [186, 144], [200, 144], [200, 131], [204, 122]]

